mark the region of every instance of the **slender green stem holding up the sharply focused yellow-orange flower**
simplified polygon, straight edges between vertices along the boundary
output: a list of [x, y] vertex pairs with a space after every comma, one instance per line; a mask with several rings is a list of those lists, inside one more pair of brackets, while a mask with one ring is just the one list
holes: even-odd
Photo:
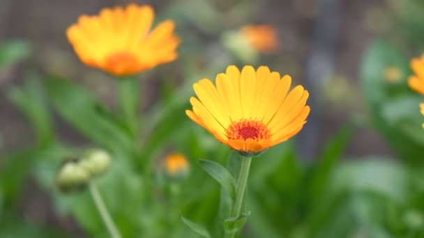
[[[230, 219], [239, 219], [241, 215], [241, 207], [243, 205], [244, 192], [246, 185], [248, 184], [250, 162], [252, 157], [241, 157], [241, 168], [239, 179], [236, 184], [236, 199], [232, 205]], [[225, 232], [225, 237], [234, 238], [240, 232], [242, 228], [231, 230], [230, 232]]]

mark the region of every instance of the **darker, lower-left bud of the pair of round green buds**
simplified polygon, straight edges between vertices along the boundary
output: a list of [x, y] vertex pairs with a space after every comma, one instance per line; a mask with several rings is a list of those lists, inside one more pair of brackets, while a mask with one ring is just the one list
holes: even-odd
[[65, 193], [82, 189], [90, 180], [90, 174], [77, 161], [66, 161], [56, 175], [56, 184]]

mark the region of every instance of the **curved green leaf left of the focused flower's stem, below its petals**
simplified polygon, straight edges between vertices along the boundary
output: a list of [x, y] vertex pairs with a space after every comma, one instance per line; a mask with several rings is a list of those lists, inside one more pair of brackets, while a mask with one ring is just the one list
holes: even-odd
[[199, 159], [199, 165], [209, 173], [221, 186], [227, 191], [228, 195], [234, 200], [234, 194], [236, 191], [236, 180], [229, 173], [227, 168], [210, 160]]

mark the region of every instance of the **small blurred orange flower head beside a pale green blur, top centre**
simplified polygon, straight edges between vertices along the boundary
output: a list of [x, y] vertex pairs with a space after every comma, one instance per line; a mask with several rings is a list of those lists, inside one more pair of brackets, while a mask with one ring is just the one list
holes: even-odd
[[273, 26], [247, 25], [241, 29], [241, 34], [259, 52], [269, 54], [278, 50], [277, 32]]

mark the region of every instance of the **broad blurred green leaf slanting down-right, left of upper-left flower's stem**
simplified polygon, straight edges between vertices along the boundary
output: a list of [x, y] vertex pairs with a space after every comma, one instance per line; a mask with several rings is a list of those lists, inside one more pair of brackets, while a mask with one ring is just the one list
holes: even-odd
[[135, 149], [130, 132], [88, 90], [66, 79], [50, 77], [47, 92], [54, 109], [87, 138], [114, 151]]

